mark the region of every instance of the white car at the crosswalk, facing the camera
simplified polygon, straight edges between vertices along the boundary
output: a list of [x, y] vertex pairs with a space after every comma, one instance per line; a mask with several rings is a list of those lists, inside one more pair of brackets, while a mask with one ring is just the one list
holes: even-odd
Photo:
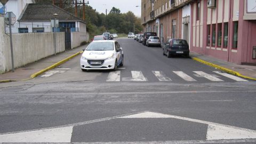
[[93, 41], [80, 59], [82, 71], [89, 69], [113, 69], [124, 65], [124, 53], [117, 41]]

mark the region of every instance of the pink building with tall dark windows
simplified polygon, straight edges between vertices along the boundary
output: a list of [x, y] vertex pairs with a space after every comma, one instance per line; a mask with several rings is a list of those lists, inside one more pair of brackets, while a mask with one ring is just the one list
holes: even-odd
[[256, 65], [255, 0], [196, 0], [190, 4], [190, 51]]

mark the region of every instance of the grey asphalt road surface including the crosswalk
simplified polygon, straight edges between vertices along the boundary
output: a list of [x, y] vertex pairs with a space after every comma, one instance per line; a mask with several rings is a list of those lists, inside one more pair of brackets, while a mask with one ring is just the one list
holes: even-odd
[[82, 72], [78, 56], [30, 81], [1, 84], [0, 142], [256, 142], [254, 81], [117, 41], [125, 61], [115, 81], [110, 70]]

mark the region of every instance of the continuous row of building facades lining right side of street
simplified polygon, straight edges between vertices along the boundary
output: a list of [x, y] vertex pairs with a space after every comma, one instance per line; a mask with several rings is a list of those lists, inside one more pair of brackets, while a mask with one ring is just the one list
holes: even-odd
[[256, 64], [256, 1], [142, 0], [141, 23], [167, 38], [187, 39], [190, 51]]

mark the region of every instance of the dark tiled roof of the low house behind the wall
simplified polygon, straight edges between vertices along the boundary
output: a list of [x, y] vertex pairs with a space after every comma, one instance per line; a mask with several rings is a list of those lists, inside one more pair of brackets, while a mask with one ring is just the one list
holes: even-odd
[[59, 14], [59, 21], [83, 21], [75, 15], [60, 9], [60, 7], [52, 4], [27, 4], [22, 11], [18, 21], [50, 21], [54, 19], [54, 13]]

